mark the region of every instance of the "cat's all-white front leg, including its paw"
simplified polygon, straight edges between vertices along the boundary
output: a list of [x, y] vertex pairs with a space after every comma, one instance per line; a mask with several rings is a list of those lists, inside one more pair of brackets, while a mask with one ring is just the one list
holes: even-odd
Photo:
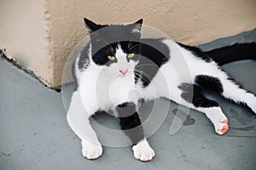
[[[82, 154], [87, 159], [96, 159], [102, 156], [102, 144], [96, 137], [95, 131], [90, 126], [89, 118], [97, 110], [97, 106], [90, 105], [84, 109], [79, 91], [73, 93], [67, 112], [67, 122], [79, 138], [82, 140]], [[92, 114], [88, 114], [88, 112]]]

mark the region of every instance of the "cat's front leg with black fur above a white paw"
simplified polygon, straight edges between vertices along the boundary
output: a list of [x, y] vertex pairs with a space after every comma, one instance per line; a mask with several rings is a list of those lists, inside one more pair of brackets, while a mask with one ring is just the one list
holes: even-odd
[[120, 126], [133, 144], [135, 158], [140, 161], [150, 161], [154, 157], [154, 150], [144, 137], [143, 126], [137, 113], [137, 106], [132, 102], [117, 105]]

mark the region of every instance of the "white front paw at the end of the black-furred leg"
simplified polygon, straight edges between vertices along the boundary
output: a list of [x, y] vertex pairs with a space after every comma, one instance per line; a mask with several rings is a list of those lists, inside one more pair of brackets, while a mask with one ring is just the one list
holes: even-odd
[[134, 145], [132, 150], [134, 157], [140, 161], [150, 161], [154, 157], [154, 150], [149, 146], [146, 139]]

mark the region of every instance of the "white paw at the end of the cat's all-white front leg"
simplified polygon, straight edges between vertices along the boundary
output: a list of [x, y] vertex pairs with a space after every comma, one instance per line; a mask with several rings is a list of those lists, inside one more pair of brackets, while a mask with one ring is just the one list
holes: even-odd
[[82, 141], [82, 154], [87, 159], [96, 159], [102, 156], [102, 144], [96, 144], [88, 140]]

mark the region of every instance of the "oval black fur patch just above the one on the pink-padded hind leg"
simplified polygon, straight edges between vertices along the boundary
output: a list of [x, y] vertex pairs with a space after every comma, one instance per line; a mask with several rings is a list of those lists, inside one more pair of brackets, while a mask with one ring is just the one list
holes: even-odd
[[210, 77], [207, 75], [198, 75], [195, 77], [195, 83], [203, 88], [206, 88], [218, 94], [222, 94], [224, 90], [221, 82], [217, 77]]

